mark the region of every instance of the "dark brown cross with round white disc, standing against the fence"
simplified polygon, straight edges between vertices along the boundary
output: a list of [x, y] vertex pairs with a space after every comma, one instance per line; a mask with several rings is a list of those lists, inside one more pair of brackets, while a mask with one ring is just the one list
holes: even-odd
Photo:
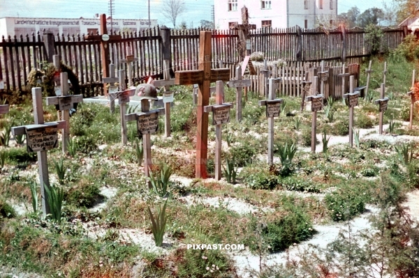
[[[102, 59], [102, 78], [110, 77], [108, 65], [110, 64], [110, 51], [108, 43], [115, 40], [122, 40], [121, 35], [108, 35], [108, 30], [106, 29], [106, 15], [103, 13], [100, 17], [101, 21], [101, 35], [87, 35], [84, 37], [84, 40], [100, 40], [101, 41], [101, 59]], [[103, 86], [103, 92], [105, 95], [108, 95], [108, 90]]]

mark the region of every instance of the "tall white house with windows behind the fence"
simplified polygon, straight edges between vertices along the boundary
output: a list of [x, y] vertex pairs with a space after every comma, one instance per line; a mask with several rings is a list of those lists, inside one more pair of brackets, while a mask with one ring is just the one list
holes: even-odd
[[242, 23], [241, 8], [249, 10], [249, 24], [256, 28], [288, 28], [298, 25], [314, 28], [316, 20], [334, 20], [337, 0], [214, 0], [215, 26], [228, 29], [235, 22]]

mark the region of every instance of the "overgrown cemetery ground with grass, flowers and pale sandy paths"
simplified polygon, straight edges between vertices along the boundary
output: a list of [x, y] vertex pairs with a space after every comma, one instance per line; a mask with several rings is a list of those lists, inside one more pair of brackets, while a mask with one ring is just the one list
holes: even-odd
[[[268, 165], [267, 118], [265, 107], [258, 106], [263, 97], [250, 92], [242, 122], [235, 121], [233, 107], [230, 123], [223, 125], [228, 181], [224, 172], [221, 181], [194, 178], [192, 86], [172, 87], [171, 137], [164, 136], [163, 117], [160, 131], [152, 134], [152, 172], [159, 175], [164, 165], [173, 172], [167, 194], [146, 185], [136, 124], [128, 123], [128, 144], [122, 146], [117, 113], [79, 104], [70, 120], [68, 153], [48, 152], [50, 183], [64, 190], [60, 224], [43, 219], [40, 206], [34, 212], [36, 154], [11, 138], [0, 149], [0, 276], [4, 271], [9, 277], [12, 272], [27, 277], [418, 277], [419, 233], [412, 213], [403, 208], [406, 194], [415, 196], [419, 187], [417, 112], [412, 130], [407, 123], [414, 64], [397, 56], [386, 61], [385, 134], [378, 134], [374, 105], [383, 59], [374, 59], [370, 93], [354, 111], [353, 148], [347, 144], [348, 108], [341, 100], [318, 112], [314, 154], [311, 111], [299, 112], [300, 98], [278, 95], [284, 103], [274, 120], [274, 165]], [[235, 90], [225, 92], [225, 102], [234, 102]], [[11, 105], [0, 128], [31, 123], [31, 110], [29, 98]], [[57, 121], [54, 106], [44, 104], [44, 110], [46, 122]], [[214, 130], [210, 125], [212, 177]], [[323, 132], [325, 140], [330, 136], [328, 146]], [[293, 157], [291, 146], [297, 149]], [[412, 209], [418, 202], [409, 199]], [[147, 209], [156, 215], [164, 203], [167, 226], [162, 247], [156, 247]], [[187, 248], [203, 244], [244, 245], [245, 250]]]

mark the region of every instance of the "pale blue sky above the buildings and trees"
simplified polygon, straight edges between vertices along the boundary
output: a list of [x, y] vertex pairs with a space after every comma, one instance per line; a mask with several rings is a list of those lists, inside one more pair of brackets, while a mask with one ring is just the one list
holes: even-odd
[[[172, 27], [161, 13], [164, 0], [113, 0], [117, 19], [148, 19], [148, 1], [150, 17], [159, 20], [159, 25]], [[226, 0], [184, 0], [186, 13], [179, 16], [177, 22], [186, 22], [189, 27], [200, 26], [200, 20], [212, 20], [214, 1]], [[255, 0], [256, 1], [256, 0]], [[298, 0], [291, 0], [298, 1]], [[302, 0], [300, 0], [302, 1]], [[344, 13], [357, 6], [361, 13], [368, 8], [382, 8], [383, 1], [391, 0], [337, 0], [338, 13]], [[109, 0], [0, 0], [0, 17], [57, 17], [57, 18], [94, 18], [96, 13], [108, 15]], [[251, 16], [251, 11], [250, 16]]]

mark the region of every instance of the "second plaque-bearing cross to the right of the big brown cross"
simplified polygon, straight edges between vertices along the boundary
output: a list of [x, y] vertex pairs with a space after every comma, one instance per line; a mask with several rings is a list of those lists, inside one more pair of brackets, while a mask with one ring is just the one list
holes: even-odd
[[269, 79], [269, 98], [267, 100], [259, 100], [259, 106], [266, 106], [267, 117], [267, 163], [274, 163], [274, 118], [281, 114], [282, 99], [275, 98], [277, 86], [281, 83], [281, 78]]

